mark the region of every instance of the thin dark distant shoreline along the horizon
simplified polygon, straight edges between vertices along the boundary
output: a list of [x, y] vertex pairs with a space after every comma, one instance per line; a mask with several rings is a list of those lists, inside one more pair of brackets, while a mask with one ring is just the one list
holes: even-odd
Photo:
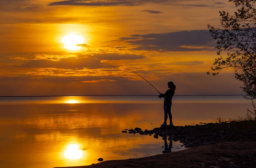
[[[45, 95], [45, 96], [0, 96], [0, 98], [28, 98], [28, 97], [128, 97], [128, 96], [158, 96], [158, 95]], [[175, 96], [246, 96], [246, 95], [175, 95]]]

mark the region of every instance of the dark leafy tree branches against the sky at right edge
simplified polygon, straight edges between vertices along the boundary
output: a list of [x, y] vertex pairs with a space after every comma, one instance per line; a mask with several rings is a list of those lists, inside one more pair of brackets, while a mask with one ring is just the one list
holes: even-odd
[[[256, 0], [229, 0], [239, 9], [230, 15], [220, 11], [222, 28], [208, 25], [212, 38], [217, 40], [218, 56], [207, 74], [217, 75], [231, 67], [235, 78], [242, 81], [245, 98], [256, 99]], [[227, 51], [227, 57], [221, 56]]]

